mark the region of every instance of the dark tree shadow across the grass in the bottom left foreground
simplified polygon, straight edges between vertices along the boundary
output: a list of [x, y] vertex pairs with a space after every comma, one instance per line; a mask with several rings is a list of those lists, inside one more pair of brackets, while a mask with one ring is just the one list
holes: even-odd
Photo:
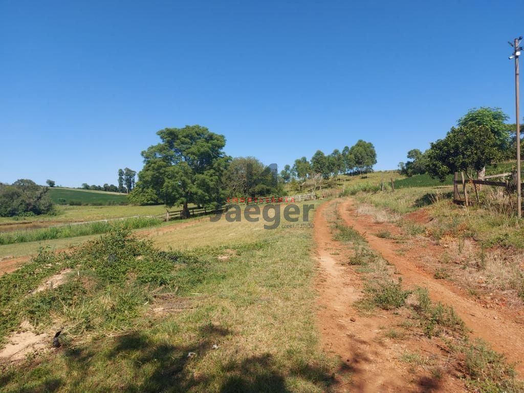
[[[173, 345], [131, 332], [78, 348], [62, 347], [60, 353], [53, 355], [57, 356], [57, 363], [51, 357], [26, 372], [18, 370], [0, 380], [16, 386], [13, 391], [20, 392], [288, 392], [290, 383], [313, 384], [323, 391], [336, 384], [326, 367], [308, 363], [300, 356], [282, 365], [282, 359], [270, 353], [222, 357], [217, 352], [217, 356], [206, 358], [210, 361], [203, 372], [195, 373], [195, 369], [202, 369], [198, 362], [208, 352], [220, 351], [220, 347], [213, 349], [213, 344], [224, 342], [224, 337], [231, 335], [228, 329], [208, 324], [198, 330], [191, 342]], [[194, 355], [188, 356], [189, 353]], [[47, 379], [32, 380], [28, 384], [31, 388], [24, 390], [25, 383], [44, 372]]]

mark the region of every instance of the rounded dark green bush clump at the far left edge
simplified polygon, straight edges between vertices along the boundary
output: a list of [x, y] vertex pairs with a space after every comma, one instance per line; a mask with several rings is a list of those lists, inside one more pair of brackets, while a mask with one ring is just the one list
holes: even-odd
[[40, 187], [28, 179], [19, 179], [11, 185], [0, 183], [0, 216], [51, 213], [53, 203], [47, 191], [47, 187]]

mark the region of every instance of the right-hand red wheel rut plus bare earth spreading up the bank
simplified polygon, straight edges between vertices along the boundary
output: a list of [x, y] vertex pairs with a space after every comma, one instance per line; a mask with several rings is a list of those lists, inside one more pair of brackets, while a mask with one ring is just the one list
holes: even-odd
[[395, 231], [396, 226], [376, 223], [368, 215], [358, 215], [353, 206], [353, 201], [344, 201], [339, 205], [344, 223], [363, 234], [370, 247], [395, 265], [406, 287], [425, 287], [433, 301], [451, 305], [474, 337], [489, 342], [494, 350], [506, 355], [510, 363], [516, 364], [515, 368], [520, 375], [524, 373], [520, 350], [524, 348], [524, 326], [516, 320], [518, 314], [508, 310], [504, 302], [498, 301], [486, 307], [486, 301], [493, 300], [495, 292], [487, 292], [484, 297], [474, 296], [463, 289], [460, 278], [455, 281], [436, 278], [434, 267], [428, 262], [439, 260], [448, 253], [462, 264], [463, 258], [467, 259], [468, 254], [474, 254], [471, 249], [475, 247], [474, 244], [462, 245], [459, 252], [456, 245], [450, 246], [445, 241], [439, 245], [424, 237], [412, 237], [403, 244], [394, 239], [380, 238], [375, 234], [384, 230]]

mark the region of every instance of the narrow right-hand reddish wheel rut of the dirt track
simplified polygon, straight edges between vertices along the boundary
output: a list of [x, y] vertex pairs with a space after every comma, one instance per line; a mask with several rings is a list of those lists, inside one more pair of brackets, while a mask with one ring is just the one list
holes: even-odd
[[366, 238], [370, 247], [396, 266], [403, 283], [412, 287], [426, 287], [432, 300], [452, 305], [467, 327], [472, 330], [474, 337], [481, 337], [489, 342], [494, 350], [504, 353], [510, 362], [516, 363], [515, 368], [519, 375], [524, 374], [520, 353], [524, 348], [524, 328], [521, 325], [497, 310], [483, 308], [465, 293], [461, 294], [461, 290], [453, 288], [443, 280], [435, 279], [418, 267], [423, 264], [422, 257], [426, 253], [424, 248], [420, 249], [420, 259], [408, 259], [396, 254], [398, 245], [371, 233], [388, 229], [391, 225], [373, 223], [368, 216], [357, 215], [352, 200], [344, 201], [339, 205], [339, 214], [346, 225], [352, 226]]

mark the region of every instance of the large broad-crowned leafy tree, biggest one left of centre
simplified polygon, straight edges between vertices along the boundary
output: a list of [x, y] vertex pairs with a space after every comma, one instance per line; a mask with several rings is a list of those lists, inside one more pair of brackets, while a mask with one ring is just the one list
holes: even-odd
[[161, 143], [142, 152], [144, 168], [133, 192], [156, 196], [167, 206], [182, 205], [183, 217], [189, 217], [189, 203], [221, 203], [221, 179], [230, 160], [222, 150], [224, 136], [199, 125], [165, 128], [157, 135]]

